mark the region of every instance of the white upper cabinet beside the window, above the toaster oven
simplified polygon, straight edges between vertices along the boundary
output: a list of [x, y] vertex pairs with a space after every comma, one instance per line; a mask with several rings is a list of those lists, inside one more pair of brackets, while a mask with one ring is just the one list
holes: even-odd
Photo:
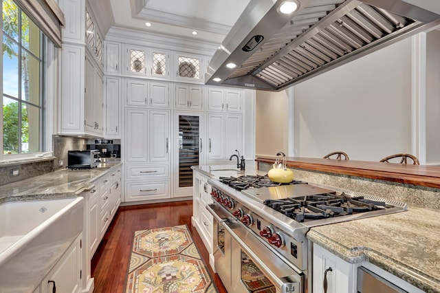
[[104, 134], [102, 38], [84, 0], [60, 0], [65, 15], [61, 50], [61, 129], [64, 135]]

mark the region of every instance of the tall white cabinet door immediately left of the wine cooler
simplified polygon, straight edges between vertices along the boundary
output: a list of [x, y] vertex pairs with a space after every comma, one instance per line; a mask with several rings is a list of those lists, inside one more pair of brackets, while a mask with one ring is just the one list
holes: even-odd
[[170, 113], [150, 111], [150, 161], [168, 162], [170, 158]]

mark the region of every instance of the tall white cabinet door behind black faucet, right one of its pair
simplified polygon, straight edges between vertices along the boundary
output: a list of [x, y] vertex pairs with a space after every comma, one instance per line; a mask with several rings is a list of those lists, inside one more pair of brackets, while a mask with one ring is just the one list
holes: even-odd
[[241, 115], [225, 115], [225, 159], [243, 149], [241, 132]]

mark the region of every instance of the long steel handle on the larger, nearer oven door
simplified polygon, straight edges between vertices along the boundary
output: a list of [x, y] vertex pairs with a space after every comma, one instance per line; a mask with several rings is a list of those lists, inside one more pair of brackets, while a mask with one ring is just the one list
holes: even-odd
[[[287, 275], [282, 276], [282, 277], [277, 276], [273, 272], [273, 270], [271, 268], [269, 268], [269, 266], [267, 266], [267, 264], [264, 261], [262, 261], [260, 259], [260, 257], [258, 257], [255, 254], [255, 252], [252, 249], [250, 249], [245, 242], [243, 242], [243, 240], [241, 239], [242, 237], [239, 237], [238, 235], [236, 235], [236, 233], [234, 232], [235, 229], [233, 230], [229, 226], [230, 224], [231, 223], [228, 223], [228, 221], [221, 222], [221, 226], [223, 226], [223, 228], [225, 228], [225, 230], [231, 235], [232, 239], [234, 239], [234, 241], [241, 247], [241, 249], [248, 255], [248, 257], [250, 257], [250, 259], [252, 259], [252, 261], [254, 261], [254, 263], [260, 268], [260, 270], [263, 272], [263, 274], [265, 274], [265, 276], [267, 276], [267, 278], [270, 279], [270, 281], [272, 281], [272, 283], [275, 285], [276, 288], [281, 288], [282, 293], [303, 292], [303, 290], [301, 289], [302, 276], [298, 275], [292, 268], [287, 269], [287, 264], [285, 264], [286, 268], [284, 269], [284, 270], [286, 270], [286, 272], [287, 272], [287, 270], [289, 271], [289, 272], [287, 272]], [[232, 225], [234, 225], [234, 224], [232, 224]], [[240, 229], [240, 228], [238, 228], [238, 229]], [[250, 241], [249, 237], [243, 237], [243, 238]], [[255, 239], [254, 241], [259, 241], [259, 240]], [[258, 245], [258, 244], [263, 246], [263, 243], [257, 243], [256, 245]], [[268, 248], [267, 248], [267, 250], [268, 250]], [[270, 253], [271, 252], [268, 252], [268, 254], [270, 254]]]

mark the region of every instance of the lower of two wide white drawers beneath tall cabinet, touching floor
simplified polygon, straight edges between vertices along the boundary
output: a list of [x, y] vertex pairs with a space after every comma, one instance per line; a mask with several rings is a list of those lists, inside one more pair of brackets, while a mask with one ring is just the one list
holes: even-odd
[[125, 193], [127, 202], [170, 198], [169, 182], [129, 182]]

